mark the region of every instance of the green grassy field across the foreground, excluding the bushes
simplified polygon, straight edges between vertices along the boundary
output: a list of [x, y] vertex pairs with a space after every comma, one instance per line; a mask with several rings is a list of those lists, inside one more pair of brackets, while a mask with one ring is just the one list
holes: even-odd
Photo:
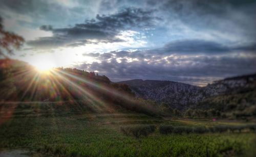
[[[10, 115], [4, 115], [8, 105]], [[244, 125], [189, 119], [163, 119], [127, 111], [93, 113], [56, 104], [2, 104], [0, 150], [25, 149], [32, 156], [253, 156], [255, 133], [159, 133], [159, 126]], [[77, 112], [83, 111], [83, 112]], [[3, 116], [4, 115], [4, 116]], [[153, 124], [154, 133], [136, 139], [120, 132], [122, 126]]]

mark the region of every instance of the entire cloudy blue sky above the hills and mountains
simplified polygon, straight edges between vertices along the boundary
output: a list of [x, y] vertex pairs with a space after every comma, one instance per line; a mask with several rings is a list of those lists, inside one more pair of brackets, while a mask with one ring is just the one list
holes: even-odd
[[0, 16], [35, 66], [198, 86], [256, 72], [256, 1], [0, 0]]

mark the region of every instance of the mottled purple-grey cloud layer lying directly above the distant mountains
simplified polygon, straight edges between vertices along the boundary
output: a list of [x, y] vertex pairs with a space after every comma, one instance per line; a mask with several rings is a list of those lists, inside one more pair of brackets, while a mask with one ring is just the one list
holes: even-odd
[[[118, 54], [118, 52], [116, 52]], [[129, 56], [130, 52], [127, 52]], [[173, 56], [160, 57], [160, 60], [146, 61], [139, 58], [133, 62], [109, 56], [110, 61], [98, 57], [101, 63], [84, 63], [77, 66], [90, 71], [98, 70], [100, 74], [109, 76], [113, 81], [129, 79], [172, 80], [194, 85], [210, 83], [223, 77], [256, 72], [256, 57], [224, 56]], [[126, 56], [126, 57], [127, 57]]]

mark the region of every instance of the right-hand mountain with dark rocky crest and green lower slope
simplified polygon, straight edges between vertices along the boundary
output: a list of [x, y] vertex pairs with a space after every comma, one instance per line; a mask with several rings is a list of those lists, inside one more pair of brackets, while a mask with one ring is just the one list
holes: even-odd
[[215, 81], [203, 92], [197, 109], [225, 112], [224, 117], [256, 117], [256, 74]]

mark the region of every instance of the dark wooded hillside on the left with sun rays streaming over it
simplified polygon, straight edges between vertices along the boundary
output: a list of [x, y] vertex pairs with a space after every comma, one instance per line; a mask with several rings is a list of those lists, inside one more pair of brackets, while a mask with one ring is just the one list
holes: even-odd
[[5, 59], [0, 60], [0, 74], [2, 104], [65, 103], [58, 108], [60, 113], [66, 109], [78, 113], [158, 112], [151, 104], [136, 100], [127, 85], [112, 84], [108, 77], [94, 72], [54, 68], [42, 73], [25, 62]]

